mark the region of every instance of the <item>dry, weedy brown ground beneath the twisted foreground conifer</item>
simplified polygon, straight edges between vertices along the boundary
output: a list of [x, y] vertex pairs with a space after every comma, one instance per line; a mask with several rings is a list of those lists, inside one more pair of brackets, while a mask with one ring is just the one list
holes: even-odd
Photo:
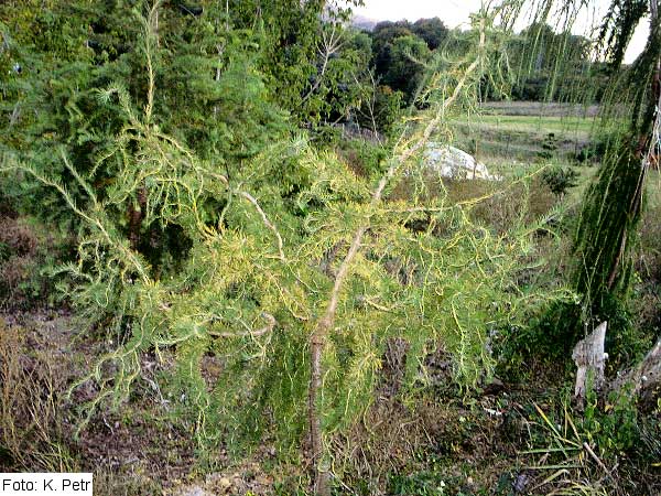
[[[77, 436], [80, 407], [98, 391], [91, 382], [71, 397], [67, 389], [112, 344], [86, 331], [67, 310], [0, 319], [1, 356], [17, 363], [11, 373], [17, 388], [2, 386], [4, 395], [15, 395], [10, 410], [3, 410], [2, 435], [13, 424], [23, 432], [18, 445], [28, 453], [17, 460], [0, 452], [0, 468], [94, 472], [95, 494], [101, 496], [304, 494], [297, 492], [306, 483], [305, 467], [282, 465], [270, 445], [241, 461], [231, 461], [220, 445], [202, 465], [194, 427], [170, 414], [172, 402], [158, 386], [166, 365], [150, 355], [142, 357], [147, 374], [130, 401], [117, 410], [100, 409]], [[8, 360], [9, 344], [13, 358]], [[610, 465], [606, 476], [583, 452], [559, 460], [535, 410], [557, 407], [557, 390], [548, 382], [497, 381], [481, 395], [466, 396], [447, 386], [443, 357], [435, 360], [440, 365], [429, 364], [437, 370], [434, 391], [414, 412], [380, 397], [353, 432], [333, 439], [344, 474], [340, 494], [551, 494], [577, 482], [596, 489], [590, 494], [661, 494], [661, 474], [646, 472], [640, 484], [626, 459]], [[544, 370], [532, 373], [543, 382]], [[35, 395], [47, 400], [34, 402]], [[35, 418], [43, 420], [41, 433]], [[618, 484], [609, 483], [614, 474]], [[362, 489], [354, 493], [355, 487]]]

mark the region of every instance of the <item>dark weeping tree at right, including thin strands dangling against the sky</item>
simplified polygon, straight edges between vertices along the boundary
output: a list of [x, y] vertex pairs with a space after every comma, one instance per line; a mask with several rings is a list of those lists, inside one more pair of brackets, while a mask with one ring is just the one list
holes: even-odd
[[[622, 317], [631, 287], [637, 226], [644, 207], [647, 169], [650, 157], [659, 151], [658, 138], [654, 138], [661, 89], [659, 2], [613, 0], [600, 23], [594, 26], [589, 45], [585, 44], [587, 39], [576, 45], [579, 40], [571, 32], [579, 14], [596, 12], [598, 6], [594, 1], [514, 0], [505, 3], [509, 4], [510, 17], [507, 19], [511, 24], [525, 12], [531, 23], [524, 43], [519, 43], [520, 46], [510, 44], [513, 54], [507, 66], [510, 82], [528, 77], [543, 56], [548, 58], [550, 39], [554, 43], [560, 40], [560, 46], [551, 47], [555, 57], [553, 67], [549, 68], [548, 99], [554, 98], [557, 80], [573, 75], [576, 88], [561, 97], [570, 103], [589, 105], [594, 101], [595, 87], [600, 84], [595, 77], [606, 78], [594, 132], [606, 150], [599, 173], [587, 188], [573, 235], [575, 267], [570, 279], [583, 301], [579, 312], [561, 312], [559, 328], [571, 330], [568, 334], [563, 333], [571, 335], [570, 342], [593, 323], [605, 320], [615, 324], [610, 327], [613, 331], [621, 331], [618, 327], [627, 325]], [[627, 46], [641, 22], [650, 25], [646, 47], [630, 66], [624, 67]], [[562, 36], [557, 37], [555, 33]], [[584, 51], [582, 58], [587, 63], [581, 67], [572, 62], [572, 45]], [[501, 90], [507, 95], [508, 89], [506, 85]]]

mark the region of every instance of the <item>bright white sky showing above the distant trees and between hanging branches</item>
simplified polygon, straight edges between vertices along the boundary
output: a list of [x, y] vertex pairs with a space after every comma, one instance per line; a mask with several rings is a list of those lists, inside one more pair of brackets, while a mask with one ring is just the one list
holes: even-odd
[[[479, 9], [483, 0], [364, 0], [365, 7], [355, 8], [355, 12], [377, 21], [399, 21], [408, 19], [416, 21], [421, 18], [438, 17], [449, 28], [468, 25], [468, 14]], [[595, 0], [597, 15], [604, 12], [610, 0]], [[584, 15], [575, 28], [576, 34], [585, 34], [592, 24], [589, 19], [594, 15]], [[643, 22], [629, 45], [625, 62], [632, 62], [641, 52], [647, 40], [648, 28]]]

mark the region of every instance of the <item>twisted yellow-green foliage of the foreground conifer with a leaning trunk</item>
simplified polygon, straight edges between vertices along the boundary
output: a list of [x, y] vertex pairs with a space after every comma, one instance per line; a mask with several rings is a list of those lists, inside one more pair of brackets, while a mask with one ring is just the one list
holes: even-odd
[[[153, 105], [158, 9], [142, 20], [144, 107], [119, 84], [97, 91], [99, 105], [119, 109], [126, 122], [98, 157], [98, 166], [113, 173], [102, 195], [64, 151], [85, 207], [69, 185], [4, 158], [7, 169], [55, 188], [83, 220], [77, 261], [62, 271], [73, 301], [119, 338], [72, 388], [96, 382], [89, 416], [129, 398], [142, 380], [144, 354], [163, 362], [174, 355], [170, 385], [178, 388], [180, 411], [194, 419], [203, 448], [219, 440], [238, 448], [264, 428], [279, 434], [281, 446], [293, 448], [307, 422], [311, 336], [329, 295], [337, 295], [337, 309], [324, 335], [315, 398], [326, 439], [371, 403], [389, 339], [409, 344], [407, 386], [421, 380], [424, 358], [441, 346], [453, 357], [457, 382], [475, 387], [491, 374], [489, 341], [498, 330], [520, 323], [541, 301], [567, 295], [517, 282], [541, 263], [532, 237], [545, 219], [527, 225], [522, 213], [505, 234], [495, 234], [472, 216], [485, 198], [452, 203], [443, 187], [431, 190], [422, 166], [426, 142], [449, 141], [453, 119], [474, 106], [485, 74], [503, 63], [507, 28], [497, 19], [507, 19], [507, 9], [483, 10], [469, 34], [474, 50], [437, 61], [443, 71], [430, 67], [419, 94], [427, 110], [408, 118], [378, 185], [304, 137], [264, 147], [229, 175], [162, 130]], [[410, 197], [392, 200], [403, 179], [412, 184]], [[174, 268], [150, 263], [122, 220], [107, 214], [127, 204], [140, 206], [144, 225], [176, 227], [187, 240]], [[350, 263], [338, 285], [343, 260]]]

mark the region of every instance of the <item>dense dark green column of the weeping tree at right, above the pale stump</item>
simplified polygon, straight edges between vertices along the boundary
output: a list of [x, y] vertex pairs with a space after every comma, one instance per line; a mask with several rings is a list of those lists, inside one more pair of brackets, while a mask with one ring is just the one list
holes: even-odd
[[[583, 321], [617, 319], [626, 311], [631, 287], [637, 226], [644, 206], [650, 158], [659, 150], [661, 97], [661, 20], [659, 2], [614, 1], [602, 26], [599, 42], [611, 62], [610, 98], [605, 104], [604, 127], [618, 129], [609, 144], [596, 182], [588, 188], [575, 234], [577, 291], [584, 294]], [[651, 9], [651, 10], [650, 10]], [[643, 52], [621, 75], [616, 68], [636, 26], [650, 15]], [[658, 130], [657, 130], [658, 133]]]

